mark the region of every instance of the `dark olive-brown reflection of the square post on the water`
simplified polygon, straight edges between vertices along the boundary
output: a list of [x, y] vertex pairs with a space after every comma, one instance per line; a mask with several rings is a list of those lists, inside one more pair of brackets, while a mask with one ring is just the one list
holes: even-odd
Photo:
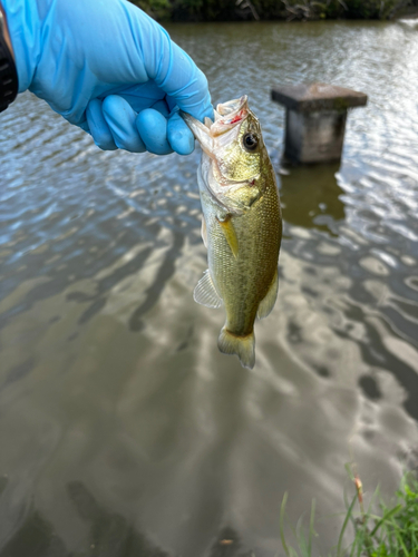
[[286, 223], [336, 235], [332, 223], [346, 216], [338, 169], [331, 164], [282, 170], [280, 198]]

